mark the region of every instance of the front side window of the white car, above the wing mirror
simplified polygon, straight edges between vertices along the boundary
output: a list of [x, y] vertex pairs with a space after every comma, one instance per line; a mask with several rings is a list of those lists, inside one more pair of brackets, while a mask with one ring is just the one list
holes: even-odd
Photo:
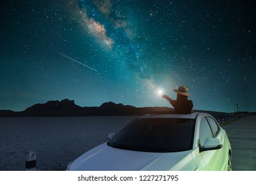
[[199, 129], [199, 144], [203, 147], [205, 140], [208, 137], [213, 137], [213, 133], [211, 131], [211, 127], [205, 117], [201, 119], [200, 129]]

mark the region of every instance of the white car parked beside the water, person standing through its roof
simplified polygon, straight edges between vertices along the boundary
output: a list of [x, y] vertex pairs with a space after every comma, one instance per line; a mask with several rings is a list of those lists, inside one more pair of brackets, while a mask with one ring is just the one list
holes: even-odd
[[210, 114], [147, 114], [67, 170], [232, 170], [226, 131]]

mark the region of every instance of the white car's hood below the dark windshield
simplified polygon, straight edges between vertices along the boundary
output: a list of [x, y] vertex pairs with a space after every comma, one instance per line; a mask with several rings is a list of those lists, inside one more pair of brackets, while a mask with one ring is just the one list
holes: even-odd
[[68, 170], [195, 170], [191, 151], [140, 152], [115, 149], [103, 143], [82, 154]]

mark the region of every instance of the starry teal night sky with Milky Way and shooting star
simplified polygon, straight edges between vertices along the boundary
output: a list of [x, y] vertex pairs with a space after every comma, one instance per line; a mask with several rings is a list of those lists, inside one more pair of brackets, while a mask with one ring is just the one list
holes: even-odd
[[0, 110], [74, 100], [256, 111], [256, 1], [0, 1]]

